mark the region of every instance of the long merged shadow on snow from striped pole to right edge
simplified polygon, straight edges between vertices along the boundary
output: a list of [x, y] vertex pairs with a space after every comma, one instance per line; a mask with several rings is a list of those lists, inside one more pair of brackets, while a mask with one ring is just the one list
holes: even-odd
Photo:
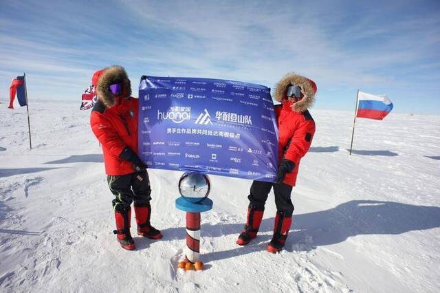
[[[243, 218], [243, 221], [245, 219]], [[203, 221], [203, 219], [202, 219]], [[263, 219], [260, 232], [272, 232], [274, 218]], [[399, 235], [414, 230], [440, 227], [440, 207], [413, 206], [398, 202], [353, 200], [329, 210], [295, 215], [285, 250], [309, 251], [318, 246], [341, 243], [356, 235]], [[201, 237], [236, 235], [243, 224], [203, 224]], [[163, 231], [164, 239], [184, 239], [184, 227]], [[248, 246], [202, 254], [202, 260], [217, 261], [265, 250], [270, 235], [259, 235]], [[233, 239], [235, 241], [235, 239]]]

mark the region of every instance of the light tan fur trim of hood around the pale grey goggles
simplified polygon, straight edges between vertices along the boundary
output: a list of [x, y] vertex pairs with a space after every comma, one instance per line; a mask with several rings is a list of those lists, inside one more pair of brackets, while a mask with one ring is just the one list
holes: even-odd
[[292, 110], [300, 113], [309, 109], [315, 101], [317, 88], [314, 81], [304, 76], [295, 74], [294, 72], [286, 74], [276, 85], [274, 97], [276, 101], [283, 102], [283, 99], [286, 97], [287, 87], [289, 87], [289, 85], [298, 85], [304, 94], [304, 97], [301, 100], [298, 100], [298, 102], [292, 104]]

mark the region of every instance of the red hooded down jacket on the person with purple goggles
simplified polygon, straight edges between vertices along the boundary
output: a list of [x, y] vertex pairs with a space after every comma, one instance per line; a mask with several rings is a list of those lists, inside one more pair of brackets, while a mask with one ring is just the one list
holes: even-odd
[[[132, 98], [131, 85], [124, 68], [112, 66], [94, 74], [92, 79], [98, 102], [91, 111], [90, 124], [102, 145], [107, 175], [133, 173], [133, 164], [119, 158], [128, 146], [137, 153], [137, 98]], [[122, 83], [122, 95], [113, 96], [109, 86]]]

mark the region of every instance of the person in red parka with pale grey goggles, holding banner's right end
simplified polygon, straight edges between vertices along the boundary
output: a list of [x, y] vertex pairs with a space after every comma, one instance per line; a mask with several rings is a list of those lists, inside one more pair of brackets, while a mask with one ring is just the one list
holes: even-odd
[[243, 246], [256, 237], [265, 202], [274, 187], [276, 216], [274, 235], [267, 251], [276, 253], [283, 249], [292, 224], [294, 205], [290, 199], [300, 160], [309, 151], [315, 133], [315, 122], [307, 109], [314, 102], [316, 84], [313, 80], [294, 73], [284, 76], [275, 89], [275, 106], [278, 123], [278, 173], [271, 182], [254, 181], [248, 199], [248, 215], [245, 228], [236, 243]]

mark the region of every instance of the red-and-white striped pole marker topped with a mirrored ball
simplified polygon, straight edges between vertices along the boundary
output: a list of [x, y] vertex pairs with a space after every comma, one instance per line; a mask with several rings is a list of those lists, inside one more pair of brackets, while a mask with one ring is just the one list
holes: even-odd
[[184, 270], [203, 270], [200, 261], [200, 213], [212, 209], [208, 175], [186, 172], [179, 180], [179, 193], [176, 208], [186, 212], [186, 254], [179, 268]]

